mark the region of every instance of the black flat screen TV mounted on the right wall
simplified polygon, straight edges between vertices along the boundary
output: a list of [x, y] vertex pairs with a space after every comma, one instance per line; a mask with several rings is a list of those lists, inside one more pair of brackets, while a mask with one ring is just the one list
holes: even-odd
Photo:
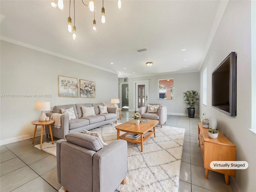
[[236, 116], [236, 52], [212, 72], [212, 107]]

